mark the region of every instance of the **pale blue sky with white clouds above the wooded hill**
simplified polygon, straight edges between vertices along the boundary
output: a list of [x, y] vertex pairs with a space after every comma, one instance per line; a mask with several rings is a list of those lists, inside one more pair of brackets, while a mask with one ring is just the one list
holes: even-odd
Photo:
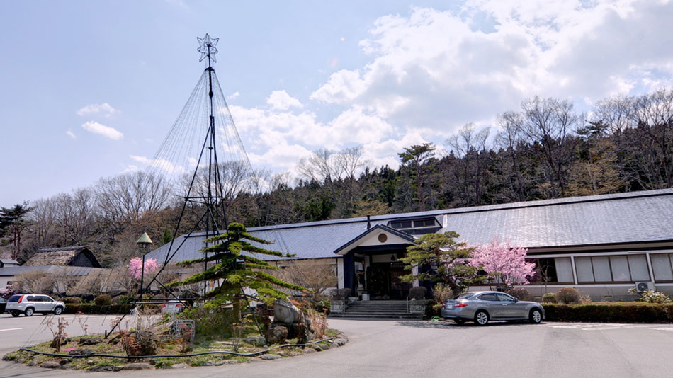
[[[215, 69], [251, 164], [397, 166], [526, 98], [587, 112], [673, 81], [672, 1], [0, 0], [0, 206], [144, 168]], [[495, 129], [497, 131], [497, 129]]]

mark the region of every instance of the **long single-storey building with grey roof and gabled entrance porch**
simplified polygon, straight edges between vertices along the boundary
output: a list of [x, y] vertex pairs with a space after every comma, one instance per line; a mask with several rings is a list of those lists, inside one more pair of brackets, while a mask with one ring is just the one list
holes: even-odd
[[[371, 299], [407, 297], [409, 273], [399, 258], [414, 239], [456, 231], [469, 244], [494, 237], [528, 248], [537, 264], [533, 297], [576, 287], [594, 300], [630, 299], [640, 287], [673, 294], [673, 190], [538, 200], [407, 214], [335, 219], [271, 227], [249, 233], [275, 241], [265, 248], [294, 253], [295, 259], [333, 265], [339, 288]], [[180, 236], [175, 263], [201, 256], [203, 234]], [[163, 261], [169, 246], [149, 253]], [[267, 256], [268, 258], [268, 256]], [[276, 259], [276, 265], [288, 259]], [[473, 287], [485, 289], [487, 287]]]

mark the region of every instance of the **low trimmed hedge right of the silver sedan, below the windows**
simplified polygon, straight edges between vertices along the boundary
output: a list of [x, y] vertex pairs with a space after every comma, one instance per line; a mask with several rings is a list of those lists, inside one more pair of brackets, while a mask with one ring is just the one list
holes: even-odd
[[673, 304], [609, 302], [587, 304], [543, 303], [547, 321], [596, 323], [671, 323]]

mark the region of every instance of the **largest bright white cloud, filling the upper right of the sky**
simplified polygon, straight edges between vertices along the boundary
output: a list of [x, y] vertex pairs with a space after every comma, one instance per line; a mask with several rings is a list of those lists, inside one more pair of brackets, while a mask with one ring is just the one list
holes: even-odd
[[310, 99], [446, 132], [535, 95], [595, 101], [646, 91], [671, 82], [672, 14], [671, 1], [636, 0], [412, 8], [378, 18], [360, 42], [371, 61], [334, 72]]

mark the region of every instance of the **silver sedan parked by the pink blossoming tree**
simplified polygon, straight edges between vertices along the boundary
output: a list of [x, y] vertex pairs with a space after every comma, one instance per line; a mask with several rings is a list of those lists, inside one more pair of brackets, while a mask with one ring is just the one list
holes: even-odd
[[480, 326], [492, 320], [540, 323], [545, 319], [545, 309], [539, 303], [520, 301], [504, 292], [466, 292], [444, 302], [441, 316], [458, 324], [474, 321]]

